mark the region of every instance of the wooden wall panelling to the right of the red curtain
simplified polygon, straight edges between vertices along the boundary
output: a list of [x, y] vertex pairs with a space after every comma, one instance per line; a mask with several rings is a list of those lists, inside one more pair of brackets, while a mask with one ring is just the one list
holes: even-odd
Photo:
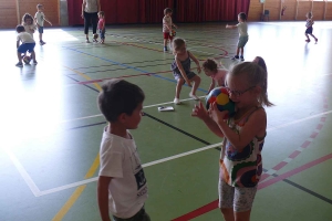
[[[287, 7], [283, 15], [282, 8]], [[270, 21], [302, 21], [312, 11], [314, 20], [332, 20], [332, 1], [309, 0], [251, 0], [248, 12], [249, 21], [260, 21], [264, 10], [270, 11]]]

